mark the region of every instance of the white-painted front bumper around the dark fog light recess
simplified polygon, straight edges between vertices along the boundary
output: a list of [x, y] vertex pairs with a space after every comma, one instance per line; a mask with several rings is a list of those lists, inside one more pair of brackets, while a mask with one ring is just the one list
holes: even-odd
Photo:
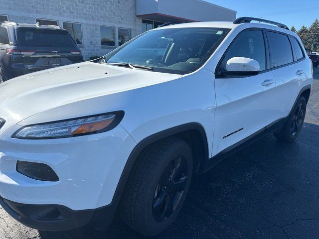
[[[13, 125], [0, 134], [1, 197], [21, 204], [61, 205], [74, 211], [97, 209], [117, 199], [117, 185], [136, 145], [121, 125], [72, 138], [11, 138], [20, 127]], [[18, 173], [17, 161], [46, 164], [59, 181], [39, 181]]]

